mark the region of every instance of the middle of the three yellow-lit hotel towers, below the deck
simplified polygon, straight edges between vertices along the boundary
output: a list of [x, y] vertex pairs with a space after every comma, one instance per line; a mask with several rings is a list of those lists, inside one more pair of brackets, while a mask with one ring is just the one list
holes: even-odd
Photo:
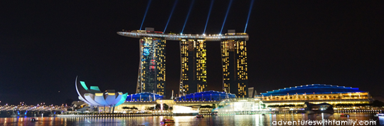
[[182, 39], [181, 53], [181, 95], [206, 91], [206, 43], [203, 39]]

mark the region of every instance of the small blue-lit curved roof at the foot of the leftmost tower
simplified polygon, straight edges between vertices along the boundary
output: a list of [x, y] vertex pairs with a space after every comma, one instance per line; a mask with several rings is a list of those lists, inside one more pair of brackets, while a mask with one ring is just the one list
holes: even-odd
[[132, 95], [128, 95], [126, 101], [156, 101], [162, 100], [164, 98], [163, 95], [154, 94], [154, 93], [135, 93]]

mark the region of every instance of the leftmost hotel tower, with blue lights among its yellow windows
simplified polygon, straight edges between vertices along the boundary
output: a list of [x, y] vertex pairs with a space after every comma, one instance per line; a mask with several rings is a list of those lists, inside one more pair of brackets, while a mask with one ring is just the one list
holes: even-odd
[[165, 95], [166, 41], [164, 38], [140, 39], [140, 63], [136, 93]]

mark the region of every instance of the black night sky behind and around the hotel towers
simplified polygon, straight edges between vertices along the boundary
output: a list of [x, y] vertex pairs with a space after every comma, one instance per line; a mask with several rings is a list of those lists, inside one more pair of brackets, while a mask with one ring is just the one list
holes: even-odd
[[[0, 1], [0, 101], [78, 100], [75, 78], [134, 93], [139, 29], [148, 1]], [[206, 33], [219, 33], [229, 0], [216, 0]], [[143, 27], [163, 31], [174, 1], [152, 1]], [[191, 1], [178, 2], [179, 33]], [[183, 33], [203, 33], [210, 1], [197, 0]], [[233, 1], [223, 31], [243, 32], [250, 1]], [[321, 83], [383, 93], [384, 1], [256, 0], [248, 23], [249, 86], [258, 93]], [[220, 43], [207, 42], [208, 90], [222, 89]], [[178, 91], [178, 41], [166, 43], [166, 91]], [[59, 93], [60, 91], [60, 93]]]

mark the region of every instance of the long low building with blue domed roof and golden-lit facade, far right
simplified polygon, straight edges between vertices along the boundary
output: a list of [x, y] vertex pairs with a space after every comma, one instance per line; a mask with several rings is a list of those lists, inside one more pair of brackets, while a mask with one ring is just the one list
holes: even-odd
[[289, 87], [261, 93], [256, 98], [261, 99], [266, 105], [303, 105], [304, 102], [320, 104], [329, 103], [338, 105], [362, 105], [373, 101], [370, 94], [358, 88], [338, 85], [312, 84]]

